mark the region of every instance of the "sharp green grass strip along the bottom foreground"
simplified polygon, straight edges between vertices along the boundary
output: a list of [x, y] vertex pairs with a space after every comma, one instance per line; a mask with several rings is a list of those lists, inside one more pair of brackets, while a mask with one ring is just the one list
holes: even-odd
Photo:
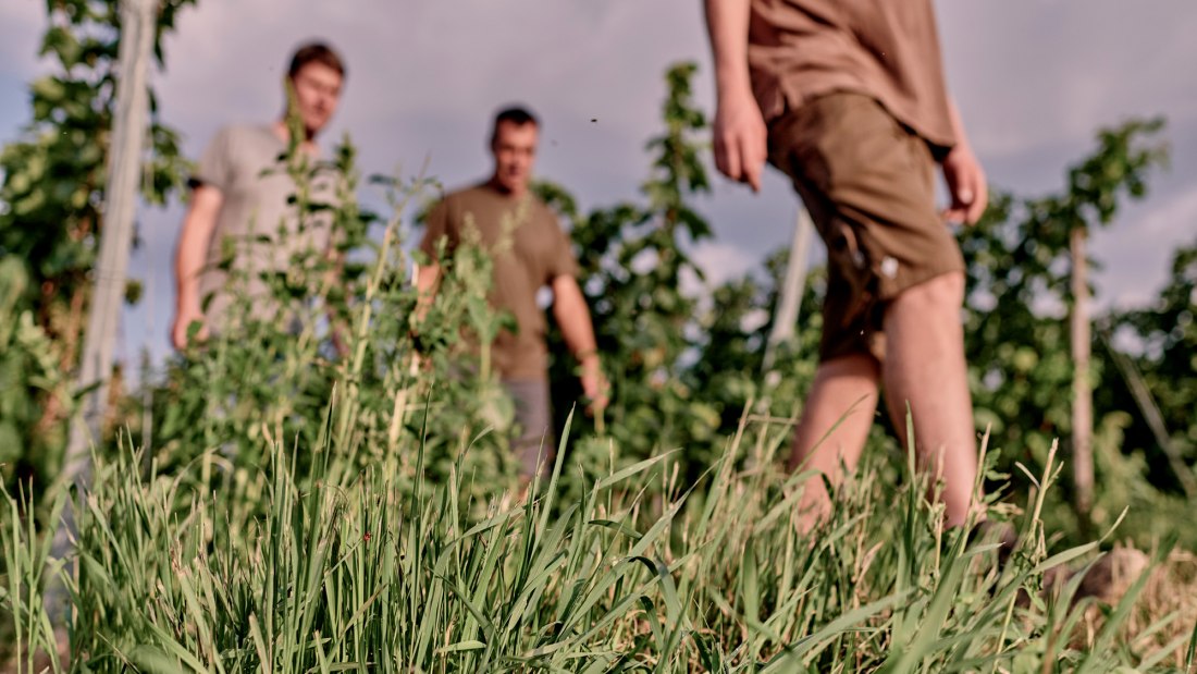
[[[676, 484], [669, 455], [593, 478], [561, 451], [519, 500], [498, 488], [470, 496], [481, 476], [458, 469], [426, 482], [419, 445], [407, 448], [414, 472], [354, 469], [330, 449], [332, 419], [316, 448], [273, 435], [269, 464], [214, 490], [194, 478], [221, 470], [215, 453], [171, 475], [141, 474], [128, 443], [116, 460], [97, 457], [73, 573], [49, 559], [23, 516], [28, 499], [6, 494], [0, 602], [17, 625], [16, 670], [31, 672], [35, 651], [54, 643], [41, 591], [50, 576], [69, 589], [73, 670], [1193, 667], [1197, 632], [1180, 612], [1128, 634], [1148, 575], [1112, 607], [1074, 601], [1080, 576], [1040, 591], [1045, 573], [1096, 549], [1050, 549], [1040, 509], [1055, 461], [1021, 514], [991, 512], [1020, 532], [999, 565], [995, 541], [935, 524], [925, 485], [880, 479], [885, 457], [840, 490], [826, 524], [801, 534], [794, 506], [812, 475], [773, 468], [784, 424], [746, 417], [691, 485]], [[310, 470], [294, 474], [298, 453], [314, 450]], [[560, 502], [566, 481], [582, 482], [571, 493], [583, 497]], [[60, 516], [61, 503], [51, 510]]]

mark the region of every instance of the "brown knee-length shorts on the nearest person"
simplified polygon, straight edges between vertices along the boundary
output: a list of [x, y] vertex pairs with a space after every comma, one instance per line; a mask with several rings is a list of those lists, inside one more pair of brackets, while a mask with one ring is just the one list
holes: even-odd
[[935, 208], [930, 147], [874, 98], [830, 93], [770, 123], [768, 154], [827, 245], [820, 358], [883, 359], [886, 303], [965, 268]]

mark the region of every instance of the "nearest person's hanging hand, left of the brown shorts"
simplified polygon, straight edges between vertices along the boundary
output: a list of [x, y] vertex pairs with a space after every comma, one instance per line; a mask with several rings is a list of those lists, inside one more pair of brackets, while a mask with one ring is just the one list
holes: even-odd
[[715, 113], [715, 165], [719, 172], [760, 192], [768, 158], [768, 132], [748, 90], [719, 97]]

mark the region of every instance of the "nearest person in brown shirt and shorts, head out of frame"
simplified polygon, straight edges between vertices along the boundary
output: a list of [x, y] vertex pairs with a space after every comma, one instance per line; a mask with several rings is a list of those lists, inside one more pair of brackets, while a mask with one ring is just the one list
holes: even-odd
[[[965, 521], [977, 476], [960, 308], [964, 261], [947, 223], [974, 223], [985, 176], [947, 95], [931, 0], [706, 0], [718, 109], [715, 158], [760, 187], [794, 182], [827, 245], [820, 365], [790, 468], [833, 484], [856, 466], [886, 387], [920, 466]], [[952, 204], [935, 208], [940, 163]], [[807, 481], [803, 523], [830, 510]]]

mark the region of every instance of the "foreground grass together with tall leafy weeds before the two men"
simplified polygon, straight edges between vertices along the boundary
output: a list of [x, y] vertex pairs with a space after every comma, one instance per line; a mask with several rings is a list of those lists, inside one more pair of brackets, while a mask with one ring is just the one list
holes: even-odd
[[[426, 181], [387, 183], [394, 215], [369, 239], [352, 148], [339, 163], [342, 247], [373, 259], [341, 273], [309, 254], [273, 278], [302, 330], [247, 311], [174, 366], [153, 432], [96, 453], [86, 492], [2, 493], [14, 670], [1192, 670], [1197, 627], [1180, 613], [1128, 630], [1147, 575], [1113, 607], [1078, 599], [1080, 576], [1047, 588], [1098, 548], [1056, 549], [1044, 524], [1055, 451], [1020, 508], [986, 461], [985, 516], [1019, 533], [1008, 555], [980, 529], [944, 532], [912, 457], [880, 448], [804, 533], [796, 506], [820, 478], [778, 468], [789, 421], [747, 413], [705, 472], [705, 445], [638, 461], [612, 437], [563, 439], [518, 493], [504, 433], [479, 431], [500, 425], [500, 389], [462, 375], [456, 344], [498, 324], [486, 255], [442, 259], [438, 300], [413, 324], [400, 225]], [[320, 311], [299, 311], [309, 298]], [[53, 559], [65, 508], [74, 546]], [[67, 588], [65, 634], [50, 582]]]

